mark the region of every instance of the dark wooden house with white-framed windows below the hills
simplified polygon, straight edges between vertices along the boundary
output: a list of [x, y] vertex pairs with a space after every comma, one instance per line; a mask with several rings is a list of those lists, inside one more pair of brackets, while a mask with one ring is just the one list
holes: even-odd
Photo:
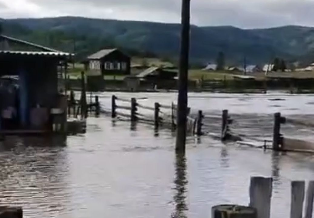
[[131, 58], [117, 48], [100, 50], [87, 59], [88, 70], [100, 75], [129, 75], [131, 72]]

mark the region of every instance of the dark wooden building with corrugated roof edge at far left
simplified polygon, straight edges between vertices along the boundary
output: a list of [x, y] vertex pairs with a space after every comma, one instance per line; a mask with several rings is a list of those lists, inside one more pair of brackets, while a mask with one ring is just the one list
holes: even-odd
[[59, 81], [71, 56], [0, 35], [0, 132], [61, 131], [67, 99]]

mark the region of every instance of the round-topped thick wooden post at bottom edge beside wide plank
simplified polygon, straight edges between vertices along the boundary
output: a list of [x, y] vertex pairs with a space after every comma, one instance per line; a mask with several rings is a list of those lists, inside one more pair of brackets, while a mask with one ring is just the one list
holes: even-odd
[[257, 218], [255, 208], [223, 204], [212, 207], [212, 218]]

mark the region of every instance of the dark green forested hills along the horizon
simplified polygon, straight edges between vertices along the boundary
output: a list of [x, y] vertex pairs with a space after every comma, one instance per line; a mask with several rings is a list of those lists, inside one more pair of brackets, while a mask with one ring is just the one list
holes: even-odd
[[[138, 21], [100, 20], [82, 17], [2, 20], [4, 34], [56, 49], [74, 49], [79, 58], [100, 48], [120, 47], [131, 54], [176, 59], [180, 25]], [[75, 45], [75, 46], [74, 46]], [[314, 28], [284, 26], [270, 29], [239, 29], [232, 26], [191, 26], [191, 59], [214, 62], [223, 51], [228, 63], [314, 61]]]

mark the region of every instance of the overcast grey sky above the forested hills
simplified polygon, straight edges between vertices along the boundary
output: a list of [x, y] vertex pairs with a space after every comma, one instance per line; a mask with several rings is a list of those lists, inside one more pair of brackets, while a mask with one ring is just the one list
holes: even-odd
[[[0, 17], [84, 16], [180, 22], [181, 0], [0, 0]], [[191, 0], [192, 23], [263, 28], [314, 26], [314, 0]]]

